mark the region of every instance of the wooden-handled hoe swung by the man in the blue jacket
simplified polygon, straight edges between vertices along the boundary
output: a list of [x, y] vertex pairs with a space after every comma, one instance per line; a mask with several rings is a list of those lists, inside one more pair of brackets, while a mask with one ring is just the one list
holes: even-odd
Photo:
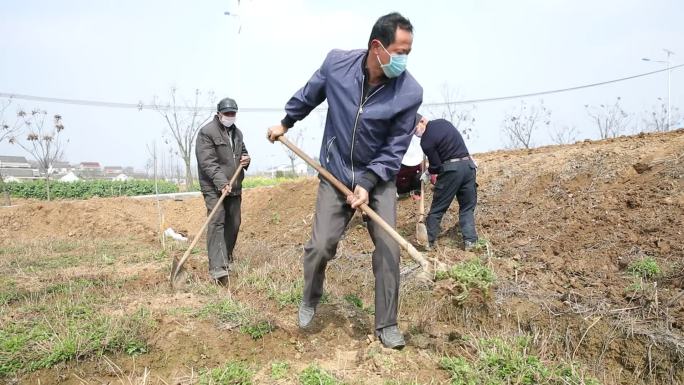
[[[315, 160], [311, 159], [305, 152], [300, 150], [297, 146], [292, 144], [285, 135], [281, 135], [278, 137], [278, 140], [285, 145], [285, 147], [289, 148], [290, 151], [294, 152], [302, 158], [306, 163], [308, 163], [311, 167], [315, 168], [316, 171], [318, 171], [323, 178], [325, 178], [328, 182], [332, 183], [335, 188], [340, 190], [345, 196], [349, 196], [352, 194], [352, 191], [345, 186], [342, 182], [337, 180], [328, 170], [324, 169], [318, 162]], [[423, 256], [418, 250], [416, 250], [415, 247], [408, 241], [406, 241], [392, 226], [390, 226], [387, 222], [385, 222], [380, 215], [378, 215], [373, 209], [371, 209], [367, 204], [362, 204], [360, 206], [361, 211], [363, 211], [364, 214], [366, 214], [371, 220], [375, 221], [380, 227], [382, 227], [383, 230], [385, 230], [397, 243], [399, 246], [401, 246], [404, 250], [406, 250], [411, 256], [411, 258], [416, 261], [420, 265], [420, 267], [423, 269], [423, 276], [421, 278], [427, 278], [432, 280], [432, 276], [434, 272], [432, 271], [431, 265], [435, 265], [435, 270], [445, 270], [446, 266], [439, 261], [436, 260], [431, 260]]]

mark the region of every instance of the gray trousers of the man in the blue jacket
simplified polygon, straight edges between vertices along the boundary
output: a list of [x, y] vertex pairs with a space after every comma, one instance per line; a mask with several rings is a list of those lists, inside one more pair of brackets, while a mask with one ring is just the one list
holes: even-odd
[[[390, 226], [396, 223], [397, 188], [395, 182], [380, 181], [370, 192], [370, 207]], [[354, 214], [346, 197], [329, 182], [321, 179], [318, 186], [316, 213], [311, 240], [304, 247], [304, 295], [307, 306], [316, 307], [323, 294], [325, 268], [335, 257], [337, 244]], [[399, 244], [379, 225], [368, 222], [375, 250], [375, 328], [397, 324], [399, 301]]]

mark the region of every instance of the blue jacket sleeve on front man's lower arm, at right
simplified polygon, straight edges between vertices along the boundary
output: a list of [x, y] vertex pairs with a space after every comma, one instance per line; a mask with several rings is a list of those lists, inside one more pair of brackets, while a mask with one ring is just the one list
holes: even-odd
[[[375, 158], [369, 163], [369, 172], [375, 174], [379, 179], [387, 182], [394, 178], [399, 172], [401, 160], [404, 158], [404, 154], [411, 143], [411, 135], [413, 135], [416, 123], [416, 113], [422, 102], [423, 92], [421, 90], [419, 97], [416, 97], [415, 100], [395, 118], [392, 123], [390, 135], [385, 140], [385, 144], [378, 151]], [[367, 187], [364, 185], [364, 181], [367, 179], [368, 178], [365, 175], [361, 178], [360, 184], [364, 188]], [[368, 187], [372, 188], [375, 186]], [[366, 189], [368, 190], [368, 188]]]

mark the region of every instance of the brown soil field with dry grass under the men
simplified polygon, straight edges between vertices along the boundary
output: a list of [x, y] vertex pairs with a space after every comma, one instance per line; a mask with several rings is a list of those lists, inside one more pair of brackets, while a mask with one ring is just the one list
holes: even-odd
[[[450, 381], [440, 357], [476, 358], [468, 341], [525, 335], [544, 362], [577, 363], [603, 384], [684, 384], [684, 130], [476, 159], [476, 224], [488, 246], [462, 251], [454, 203], [438, 247], [427, 255], [448, 265], [479, 257], [496, 281], [460, 301], [453, 280], [418, 282], [415, 264], [403, 253], [402, 351], [382, 348], [372, 337], [372, 314], [344, 300], [354, 295], [373, 303], [373, 245], [358, 215], [328, 266], [330, 300], [320, 306], [313, 330], [298, 329], [295, 304], [274, 299], [274, 292], [302, 279], [315, 178], [244, 191], [231, 283], [216, 290], [204, 238], [186, 265], [188, 284], [169, 287], [171, 260], [187, 244], [167, 240], [161, 253], [155, 201], [0, 208], [2, 280], [26, 293], [78, 278], [123, 282], [102, 294], [111, 301], [106, 311], [131, 314], [144, 307], [154, 320], [144, 354], [77, 357], [0, 382], [190, 384], [203, 368], [240, 360], [255, 371], [254, 383], [298, 383], [296, 373], [315, 363], [345, 383], [439, 384]], [[427, 207], [430, 198], [428, 188]], [[161, 209], [163, 228], [189, 237], [206, 218], [200, 198], [161, 201]], [[417, 202], [400, 199], [397, 230], [414, 243], [417, 209]], [[630, 266], [644, 258], [661, 271], [634, 289]], [[255, 340], [234, 326], [188, 316], [223, 298], [248, 304], [273, 331]], [[27, 316], [21, 306], [0, 306], [1, 328]], [[290, 367], [277, 380], [269, 374], [276, 362]]]

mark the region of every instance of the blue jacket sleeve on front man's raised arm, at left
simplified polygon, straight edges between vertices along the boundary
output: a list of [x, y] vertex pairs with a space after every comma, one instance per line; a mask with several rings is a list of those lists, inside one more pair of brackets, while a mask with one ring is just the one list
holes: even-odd
[[311, 79], [300, 88], [290, 98], [285, 105], [285, 118], [281, 121], [283, 126], [290, 128], [294, 123], [304, 119], [309, 113], [319, 104], [323, 103], [326, 98], [326, 74], [328, 72], [328, 63], [334, 51], [328, 53], [321, 68], [319, 68]]

